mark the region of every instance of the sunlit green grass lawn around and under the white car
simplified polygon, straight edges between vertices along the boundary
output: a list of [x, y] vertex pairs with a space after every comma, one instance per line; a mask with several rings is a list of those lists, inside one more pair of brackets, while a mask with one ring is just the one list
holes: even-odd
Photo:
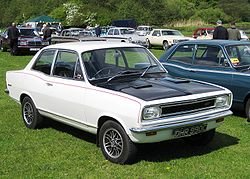
[[123, 166], [105, 160], [95, 136], [83, 131], [54, 121], [27, 129], [20, 105], [4, 89], [5, 72], [31, 58], [0, 52], [0, 178], [250, 178], [250, 124], [235, 115], [207, 146], [181, 139], [140, 145], [137, 161]]

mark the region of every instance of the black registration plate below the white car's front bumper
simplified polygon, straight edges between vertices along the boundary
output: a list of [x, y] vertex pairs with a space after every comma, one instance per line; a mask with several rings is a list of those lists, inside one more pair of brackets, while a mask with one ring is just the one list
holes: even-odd
[[207, 124], [200, 124], [200, 125], [189, 126], [189, 127], [181, 127], [181, 128], [177, 128], [173, 130], [173, 136], [175, 138], [191, 136], [191, 135], [205, 132], [206, 129], [207, 129]]

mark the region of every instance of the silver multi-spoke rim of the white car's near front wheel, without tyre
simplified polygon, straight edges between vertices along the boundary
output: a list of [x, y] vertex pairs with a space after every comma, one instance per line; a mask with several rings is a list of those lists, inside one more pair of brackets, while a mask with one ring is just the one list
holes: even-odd
[[111, 128], [105, 131], [103, 136], [103, 144], [106, 153], [112, 158], [118, 158], [123, 151], [123, 140], [120, 133]]

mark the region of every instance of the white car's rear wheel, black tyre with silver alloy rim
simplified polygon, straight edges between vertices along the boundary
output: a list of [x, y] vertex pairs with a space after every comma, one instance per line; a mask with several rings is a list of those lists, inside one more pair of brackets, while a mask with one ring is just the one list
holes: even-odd
[[27, 128], [37, 129], [41, 125], [42, 116], [30, 97], [25, 97], [22, 101], [22, 117]]

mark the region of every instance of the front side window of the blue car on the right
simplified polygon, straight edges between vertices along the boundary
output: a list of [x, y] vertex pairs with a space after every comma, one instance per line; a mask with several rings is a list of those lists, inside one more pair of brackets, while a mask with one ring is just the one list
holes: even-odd
[[224, 64], [224, 55], [218, 46], [198, 45], [194, 64], [220, 66]]

